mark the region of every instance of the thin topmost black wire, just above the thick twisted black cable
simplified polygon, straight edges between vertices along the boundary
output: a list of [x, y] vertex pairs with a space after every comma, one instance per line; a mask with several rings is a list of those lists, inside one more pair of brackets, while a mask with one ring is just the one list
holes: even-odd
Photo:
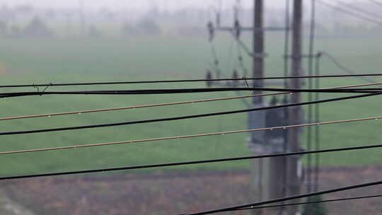
[[245, 80], [272, 80], [272, 79], [323, 79], [342, 78], [354, 76], [382, 76], [382, 74], [352, 74], [352, 75], [325, 75], [325, 76], [275, 76], [264, 78], [241, 78], [241, 79], [185, 79], [185, 80], [161, 80], [161, 81], [115, 81], [115, 82], [86, 82], [86, 83], [43, 83], [25, 85], [3, 85], [0, 88], [24, 88], [24, 87], [51, 87], [51, 86], [91, 86], [91, 85], [119, 85], [137, 83], [182, 83], [182, 82], [205, 82], [205, 81], [245, 81]]

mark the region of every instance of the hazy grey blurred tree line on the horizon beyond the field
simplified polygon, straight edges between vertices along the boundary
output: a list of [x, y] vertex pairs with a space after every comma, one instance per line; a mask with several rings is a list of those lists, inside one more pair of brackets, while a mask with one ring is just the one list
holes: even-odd
[[[366, 4], [359, 4], [363, 6]], [[364, 6], [369, 10], [369, 8]], [[1, 37], [107, 37], [110, 31], [120, 37], [137, 35], [175, 35], [175, 36], [205, 36], [207, 21], [214, 21], [215, 12], [211, 8], [180, 8], [178, 10], [158, 9], [153, 5], [148, 11], [134, 11], [126, 8], [111, 10], [100, 8], [98, 11], [86, 11], [83, 15], [74, 9], [35, 8], [29, 4], [14, 7], [0, 7]], [[357, 18], [349, 17], [331, 11], [328, 8], [318, 8], [320, 14], [317, 23], [318, 36], [349, 36], [381, 34], [382, 27], [364, 23]], [[325, 15], [325, 16], [323, 16]], [[80, 17], [85, 18], [85, 25], [79, 24]], [[222, 25], [233, 25], [233, 9], [221, 11]], [[308, 16], [305, 17], [308, 27]], [[252, 11], [242, 8], [240, 12], [241, 25], [252, 25]], [[106, 28], [105, 26], [112, 26]], [[284, 10], [268, 8], [265, 25], [283, 27]], [[64, 33], [59, 33], [60, 26]], [[66, 26], [66, 28], [64, 28]], [[84, 28], [84, 29], [79, 29]], [[308, 28], [304, 28], [308, 30]], [[82, 35], [80, 35], [80, 32]], [[307, 34], [308, 32], [306, 32]]]

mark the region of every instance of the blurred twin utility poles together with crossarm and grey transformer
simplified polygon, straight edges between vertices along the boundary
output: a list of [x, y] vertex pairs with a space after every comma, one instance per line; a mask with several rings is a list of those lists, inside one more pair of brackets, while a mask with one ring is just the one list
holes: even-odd
[[[293, 69], [294, 73], [292, 76], [299, 76], [300, 69], [301, 69], [301, 2], [302, 0], [295, 0], [295, 10], [296, 14], [299, 14], [299, 16], [295, 17], [296, 25], [294, 30], [294, 64]], [[285, 26], [284, 28], [277, 28], [277, 27], [270, 27], [265, 28], [264, 26], [264, 8], [265, 8], [265, 0], [253, 0], [253, 27], [245, 28], [242, 27], [238, 21], [237, 18], [237, 11], [236, 11], [236, 18], [235, 18], [235, 24], [234, 27], [221, 27], [220, 26], [220, 16], [219, 13], [216, 16], [216, 28], [214, 28], [214, 25], [212, 22], [208, 23], [209, 33], [210, 33], [210, 40], [214, 38], [214, 31], [215, 30], [221, 30], [221, 31], [228, 31], [229, 33], [233, 34], [234, 37], [236, 37], [236, 40], [238, 40], [238, 43], [244, 46], [243, 48], [245, 50], [248, 50], [248, 54], [253, 59], [253, 78], [262, 78], [265, 74], [265, 31], [272, 30], [272, 31], [278, 31], [278, 30], [290, 30], [290, 26]], [[243, 45], [243, 42], [240, 40], [240, 33], [241, 31], [253, 31], [253, 50], [250, 51], [249, 48], [245, 47]], [[298, 59], [298, 60], [296, 60]], [[295, 69], [297, 68], [297, 69]], [[233, 73], [235, 76], [238, 76], [237, 72]], [[211, 73], [207, 73], [209, 77], [212, 77]], [[216, 76], [219, 76], [219, 74], [216, 74]], [[232, 83], [229, 83], [232, 84]], [[265, 83], [263, 80], [256, 80], [253, 81], [253, 87], [255, 88], [262, 88], [265, 86]], [[294, 80], [294, 82], [290, 85], [294, 88], [300, 88], [300, 82], [299, 79]], [[255, 94], [260, 94], [261, 91], [256, 91]], [[296, 100], [300, 100], [299, 94], [293, 95], [292, 102], [296, 102]], [[277, 105], [278, 101], [276, 98], [272, 99], [272, 102], [270, 104], [267, 103], [267, 101], [264, 100], [263, 97], [254, 97], [252, 100], [252, 106], [253, 108], [264, 108], [268, 105]], [[296, 110], [296, 111], [294, 111]], [[264, 127], [277, 127], [277, 126], [284, 126], [287, 123], [290, 124], [299, 124], [296, 122], [301, 122], [301, 115], [299, 114], [301, 111], [300, 109], [293, 109], [290, 110], [293, 112], [291, 114], [291, 118], [289, 118], [290, 122], [285, 122], [286, 117], [286, 110], [274, 109], [274, 110], [260, 110], [260, 111], [253, 111], [248, 112], [248, 128], [249, 129], [257, 129], [257, 128], [264, 128]], [[289, 112], [289, 111], [288, 111]], [[249, 140], [249, 148], [252, 153], [255, 155], [262, 155], [262, 154], [269, 154], [269, 153], [282, 153], [284, 152], [284, 149], [287, 144], [287, 138], [286, 135], [287, 131], [259, 131], [259, 132], [253, 132], [250, 134], [250, 140]], [[291, 133], [288, 133], [291, 136], [291, 139], [288, 141], [288, 144], [292, 144], [293, 147], [291, 147], [291, 151], [297, 151], [296, 149], [299, 149], [299, 130], [293, 129]], [[292, 143], [293, 142], [293, 143]], [[288, 160], [289, 161], [289, 160]], [[294, 182], [294, 185], [297, 186], [297, 190], [289, 189], [291, 193], [295, 193], [299, 191], [299, 177], [296, 172], [299, 159], [296, 158], [294, 161], [289, 162], [288, 167], [285, 168], [285, 158], [262, 158], [252, 161], [253, 165], [251, 168], [252, 175], [251, 175], [251, 191], [253, 194], [253, 200], [255, 201], [261, 201], [265, 199], [276, 199], [279, 197], [283, 197], [285, 192], [288, 191], [289, 184], [286, 184], [285, 182], [285, 175], [287, 174], [287, 171], [292, 171], [295, 174], [289, 175], [289, 181]], [[267, 209], [267, 214], [279, 214], [279, 209], [272, 210]], [[265, 211], [262, 211], [261, 209], [253, 210], [251, 213], [260, 215], [264, 214]], [[295, 214], [294, 214], [295, 215]]]

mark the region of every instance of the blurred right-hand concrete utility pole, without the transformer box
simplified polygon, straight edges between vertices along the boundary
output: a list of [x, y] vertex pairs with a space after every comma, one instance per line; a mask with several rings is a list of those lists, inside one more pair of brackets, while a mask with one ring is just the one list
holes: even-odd
[[[301, 76], [301, 51], [302, 51], [302, 19], [303, 19], [303, 2], [302, 0], [294, 0], [293, 12], [293, 37], [292, 37], [292, 63], [291, 63], [291, 76]], [[291, 79], [289, 82], [291, 88], [301, 88], [300, 79]], [[301, 93], [293, 93], [290, 96], [291, 103], [301, 103]], [[301, 123], [302, 109], [299, 106], [289, 108], [289, 124]], [[288, 149], [289, 151], [300, 150], [299, 129], [291, 128], [288, 131]], [[291, 156], [288, 158], [287, 163], [287, 182], [288, 182], [288, 195], [299, 194], [301, 186], [301, 163], [299, 157]], [[291, 203], [299, 202], [298, 199]], [[296, 215], [299, 207], [288, 207], [289, 215]]]

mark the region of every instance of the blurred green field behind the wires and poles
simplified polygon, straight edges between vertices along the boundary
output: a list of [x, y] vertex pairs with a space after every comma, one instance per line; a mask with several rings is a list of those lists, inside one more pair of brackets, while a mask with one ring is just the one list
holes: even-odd
[[[381, 66], [380, 38], [325, 38], [318, 40], [317, 50], [325, 50], [359, 73], [378, 73]], [[282, 74], [283, 41], [273, 35], [267, 41], [267, 76]], [[204, 38], [137, 37], [104, 40], [0, 40], [1, 84], [62, 83], [85, 81], [130, 81], [154, 79], [199, 79], [211, 61]], [[222, 68], [228, 77], [236, 66], [236, 45], [226, 37], [216, 41]], [[231, 50], [231, 51], [230, 51]], [[247, 60], [248, 61], [248, 60]], [[248, 62], [247, 62], [248, 63]], [[248, 64], [249, 66], [249, 64]], [[323, 74], [342, 74], [327, 59], [321, 66]], [[228, 74], [229, 73], [229, 74]], [[325, 79], [323, 86], [364, 83], [359, 79]], [[203, 83], [152, 84], [135, 86], [57, 87], [48, 91], [190, 88]], [[19, 89], [12, 89], [16, 91]], [[25, 88], [25, 91], [35, 91]], [[1, 89], [1, 91], [5, 91]], [[248, 93], [247, 93], [248, 94]], [[116, 108], [129, 105], [166, 103], [202, 98], [219, 98], [235, 93], [204, 93], [188, 95], [46, 95], [0, 100], [0, 117], [33, 115], [94, 108]], [[323, 98], [340, 95], [323, 95]], [[47, 127], [144, 120], [158, 117], [192, 115], [204, 112], [244, 109], [241, 100], [197, 103], [164, 108], [121, 110], [61, 117], [3, 121], [1, 132]], [[382, 115], [378, 97], [345, 100], [322, 105], [322, 121], [345, 120]], [[0, 151], [37, 149], [73, 144], [146, 139], [161, 136], [198, 134], [204, 132], [246, 129], [247, 114], [207, 117], [178, 122], [135, 124], [121, 127], [84, 129], [44, 134], [0, 136]], [[380, 121], [354, 122], [321, 126], [322, 148], [330, 149], [361, 144], [381, 144]], [[248, 134], [231, 134], [196, 139], [158, 141], [122, 146], [76, 149], [55, 152], [24, 153], [0, 156], [0, 175], [17, 175], [61, 170], [107, 168], [188, 161], [209, 158], [247, 156]], [[326, 153], [324, 165], [365, 165], [381, 163], [381, 149], [357, 152]], [[248, 168], [248, 161], [189, 165], [176, 169]], [[164, 169], [163, 169], [164, 170]]]

